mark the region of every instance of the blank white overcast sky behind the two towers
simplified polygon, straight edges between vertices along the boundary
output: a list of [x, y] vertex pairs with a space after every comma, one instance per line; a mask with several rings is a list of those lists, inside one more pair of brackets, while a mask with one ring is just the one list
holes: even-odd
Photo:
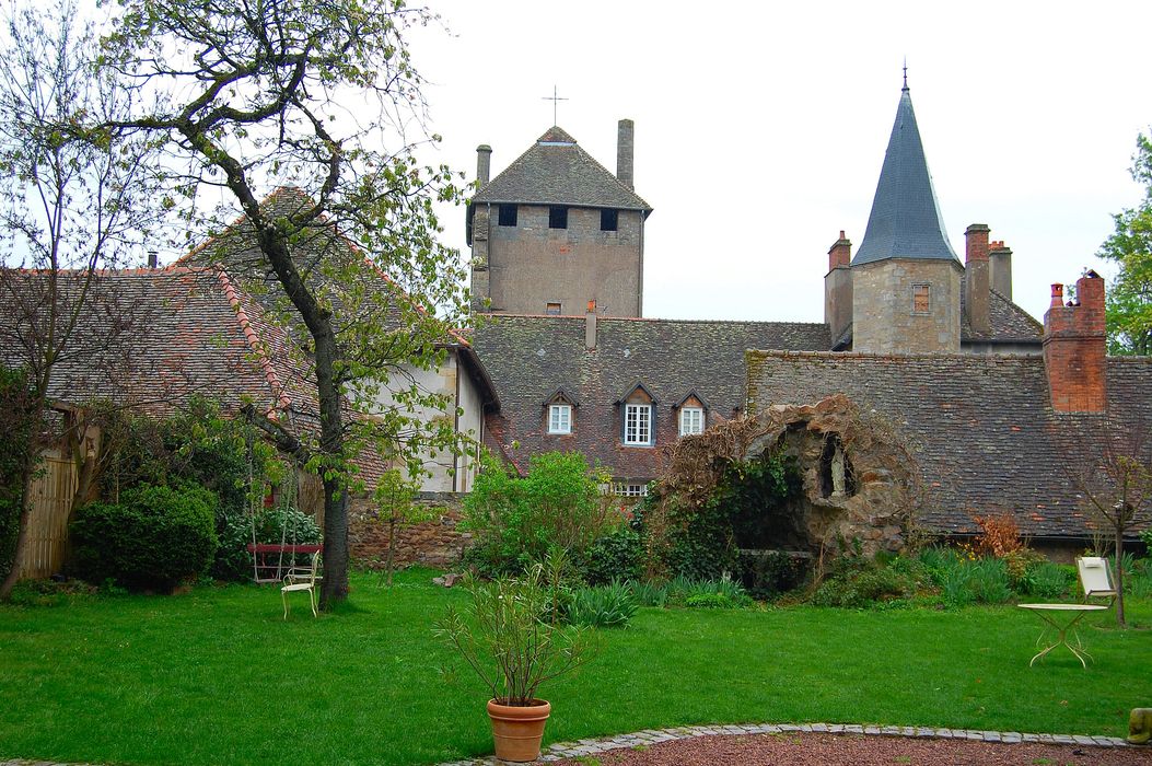
[[[908, 82], [953, 249], [987, 223], [1014, 298], [1100, 268], [1152, 124], [1152, 2], [744, 3], [432, 0], [419, 30], [434, 159], [495, 176], [553, 123], [609, 170], [636, 122], [644, 314], [823, 321], [827, 251], [864, 236]], [[448, 215], [465, 249], [464, 213]]]

